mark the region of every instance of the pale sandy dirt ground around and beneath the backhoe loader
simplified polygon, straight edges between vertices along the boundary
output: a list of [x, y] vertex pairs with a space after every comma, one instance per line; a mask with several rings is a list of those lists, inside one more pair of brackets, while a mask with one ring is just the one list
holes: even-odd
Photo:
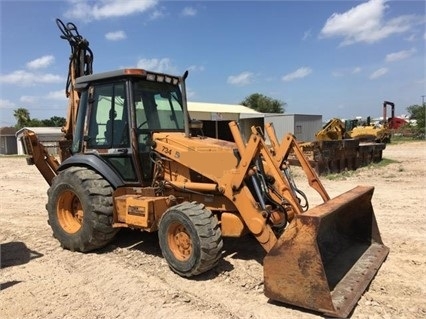
[[[398, 162], [322, 178], [331, 197], [375, 186], [390, 247], [351, 316], [425, 318], [426, 142], [391, 144], [383, 156]], [[63, 250], [47, 224], [47, 188], [24, 158], [0, 157], [1, 318], [321, 318], [264, 296], [264, 252], [251, 237], [226, 239], [218, 267], [196, 279], [169, 270], [156, 234], [122, 231], [94, 253]]]

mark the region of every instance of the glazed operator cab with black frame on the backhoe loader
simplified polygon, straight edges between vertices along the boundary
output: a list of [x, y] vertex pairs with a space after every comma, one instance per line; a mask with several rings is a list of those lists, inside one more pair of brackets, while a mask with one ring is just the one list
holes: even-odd
[[178, 77], [141, 69], [77, 78], [80, 102], [72, 153], [99, 157], [123, 185], [149, 185], [152, 133], [184, 132], [179, 84]]

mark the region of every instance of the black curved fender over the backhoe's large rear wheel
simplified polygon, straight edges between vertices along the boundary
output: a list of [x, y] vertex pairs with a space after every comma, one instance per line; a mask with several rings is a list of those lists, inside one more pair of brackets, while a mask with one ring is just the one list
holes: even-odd
[[93, 169], [102, 175], [114, 189], [124, 185], [124, 181], [120, 175], [104, 159], [96, 154], [76, 154], [68, 157], [61, 163], [58, 172], [71, 166], [84, 166]]

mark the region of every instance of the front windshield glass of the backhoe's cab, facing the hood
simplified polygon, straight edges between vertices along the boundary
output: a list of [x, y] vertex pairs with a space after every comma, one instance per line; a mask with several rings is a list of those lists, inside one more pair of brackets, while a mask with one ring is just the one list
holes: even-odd
[[164, 82], [133, 82], [136, 127], [148, 130], [183, 130], [179, 87]]

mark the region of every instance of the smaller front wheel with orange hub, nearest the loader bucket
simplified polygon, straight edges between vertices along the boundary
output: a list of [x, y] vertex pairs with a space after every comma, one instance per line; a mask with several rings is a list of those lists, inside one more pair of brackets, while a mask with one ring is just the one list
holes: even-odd
[[158, 236], [170, 268], [184, 277], [212, 269], [222, 254], [218, 221], [203, 204], [184, 202], [162, 216]]

